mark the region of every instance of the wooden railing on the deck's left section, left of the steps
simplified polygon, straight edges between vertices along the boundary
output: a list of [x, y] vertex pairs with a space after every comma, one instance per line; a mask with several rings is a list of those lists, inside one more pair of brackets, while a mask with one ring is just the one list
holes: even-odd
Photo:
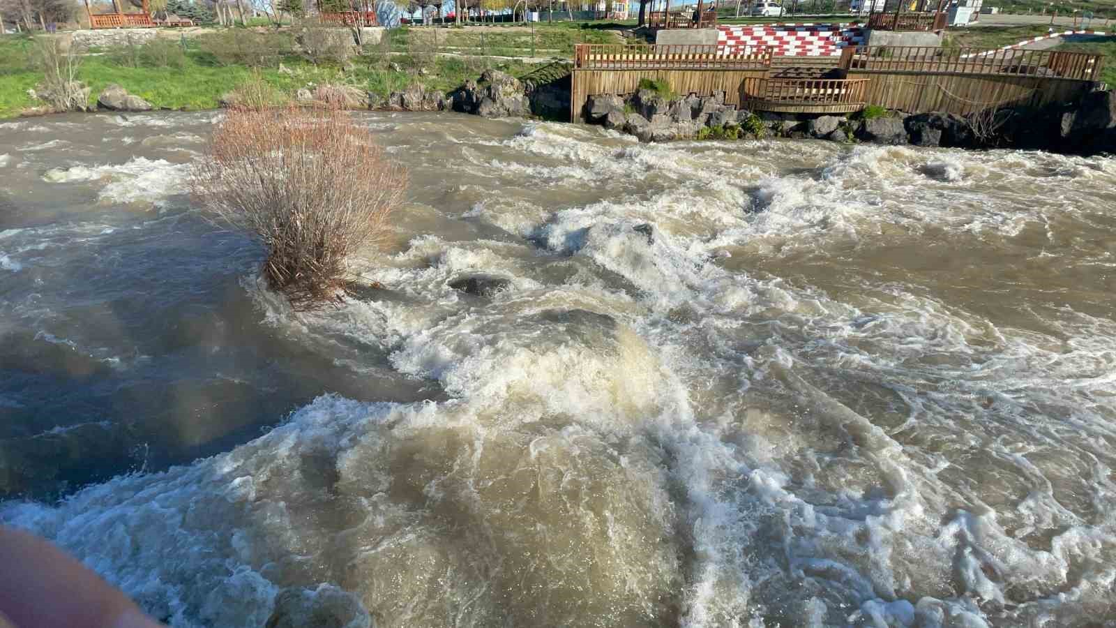
[[578, 69], [763, 69], [771, 67], [771, 48], [757, 46], [729, 51], [714, 45], [624, 46], [578, 44]]

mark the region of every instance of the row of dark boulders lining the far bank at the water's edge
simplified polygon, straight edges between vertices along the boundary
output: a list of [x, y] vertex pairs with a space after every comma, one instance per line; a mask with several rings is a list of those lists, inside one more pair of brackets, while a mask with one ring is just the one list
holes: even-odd
[[[75, 86], [84, 87], [84, 86]], [[75, 89], [84, 106], [88, 88]], [[46, 98], [45, 98], [46, 99]], [[535, 84], [499, 70], [485, 70], [449, 95], [412, 85], [387, 98], [345, 85], [304, 88], [298, 104], [327, 104], [349, 110], [436, 112], [454, 111], [483, 117], [568, 117], [568, 80]], [[565, 105], [564, 105], [565, 103]], [[221, 106], [237, 106], [237, 96]], [[152, 111], [150, 103], [117, 85], [106, 87], [97, 106], [107, 111]], [[866, 107], [852, 115], [811, 115], [750, 112], [725, 104], [724, 95], [670, 95], [642, 88], [633, 94], [591, 96], [585, 118], [627, 133], [641, 142], [676, 140], [812, 139], [838, 143], [941, 146], [960, 149], [1016, 148], [1067, 154], [1116, 153], [1116, 91], [1095, 91], [1072, 103], [1043, 110], [1006, 108], [973, 116], [941, 112], [905, 114]]]

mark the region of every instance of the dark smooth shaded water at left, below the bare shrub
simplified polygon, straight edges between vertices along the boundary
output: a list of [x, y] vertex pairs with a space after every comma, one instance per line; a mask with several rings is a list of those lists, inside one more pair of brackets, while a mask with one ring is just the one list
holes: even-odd
[[61, 269], [30, 268], [35, 285], [8, 291], [66, 311], [39, 329], [0, 327], [0, 498], [57, 497], [228, 450], [325, 392], [440, 393], [386, 355], [356, 373], [266, 324], [241, 285], [259, 257], [242, 238], [189, 215], [161, 227]]

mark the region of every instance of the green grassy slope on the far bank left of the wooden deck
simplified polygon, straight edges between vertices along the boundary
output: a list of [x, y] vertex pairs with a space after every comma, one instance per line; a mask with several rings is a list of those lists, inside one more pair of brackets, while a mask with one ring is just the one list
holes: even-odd
[[[392, 92], [401, 92], [414, 84], [448, 93], [487, 68], [522, 76], [538, 66], [516, 57], [479, 56], [468, 54], [469, 50], [453, 50], [470, 40], [454, 36], [434, 42], [430, 32], [433, 29], [422, 30], [391, 30], [381, 42], [354, 48], [343, 55], [323, 48], [308, 49], [287, 32], [228, 29], [193, 39], [156, 38], [146, 44], [80, 50], [81, 64], [76, 78], [90, 87], [90, 106], [96, 104], [102, 89], [115, 83], [155, 108], [193, 111], [218, 107], [223, 95], [254, 75], [290, 95], [301, 88], [312, 91], [323, 84], [341, 84], [386, 98]], [[436, 37], [445, 37], [445, 30], [459, 29], [443, 29]], [[461, 30], [466, 31], [461, 36], [465, 37], [469, 29]], [[573, 29], [555, 27], [549, 30]], [[512, 45], [521, 46], [522, 41], [517, 44], [517, 40], [508, 38], [493, 39], [491, 51], [523, 50], [521, 47], [512, 48]], [[28, 93], [44, 78], [35, 60], [36, 39], [28, 36], [0, 37], [0, 117], [17, 116], [44, 104]], [[538, 39], [562, 50], [566, 44], [574, 40], [574, 36], [558, 35]], [[497, 45], [502, 48], [494, 47]], [[488, 38], [484, 46], [485, 49], [490, 47]], [[571, 47], [568, 49], [573, 50]]]

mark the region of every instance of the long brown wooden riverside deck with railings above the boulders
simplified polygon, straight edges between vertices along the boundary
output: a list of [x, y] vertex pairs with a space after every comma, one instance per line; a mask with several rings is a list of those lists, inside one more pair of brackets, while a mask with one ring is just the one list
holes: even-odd
[[[727, 54], [715, 46], [579, 45], [570, 118], [589, 96], [632, 94], [664, 80], [677, 94], [724, 94], [754, 111], [850, 113], [879, 105], [907, 113], [968, 115], [989, 108], [1067, 102], [1095, 86], [1100, 55], [1057, 50], [933, 47], [847, 48], [839, 60], [786, 64], [768, 48]], [[801, 67], [799, 67], [801, 66]]]

